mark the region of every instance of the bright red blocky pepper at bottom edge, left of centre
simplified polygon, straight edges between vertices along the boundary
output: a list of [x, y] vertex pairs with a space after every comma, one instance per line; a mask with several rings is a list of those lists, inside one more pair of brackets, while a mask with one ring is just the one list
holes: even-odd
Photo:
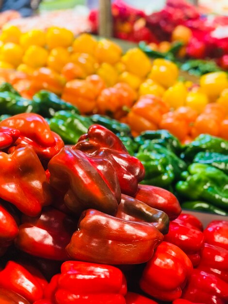
[[122, 282], [121, 270], [113, 266], [67, 261], [61, 267], [55, 301], [57, 304], [125, 304]]

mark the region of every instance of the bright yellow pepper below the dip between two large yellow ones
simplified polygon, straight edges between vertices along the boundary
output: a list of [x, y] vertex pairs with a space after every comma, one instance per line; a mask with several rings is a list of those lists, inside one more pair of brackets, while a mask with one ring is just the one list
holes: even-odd
[[171, 108], [177, 109], [185, 104], [187, 88], [181, 82], [170, 86], [163, 94], [163, 101]]

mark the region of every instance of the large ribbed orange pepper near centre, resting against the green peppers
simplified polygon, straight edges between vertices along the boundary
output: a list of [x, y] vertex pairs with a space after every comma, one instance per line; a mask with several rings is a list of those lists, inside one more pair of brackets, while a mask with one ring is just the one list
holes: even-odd
[[167, 105], [155, 95], [143, 95], [133, 105], [127, 121], [132, 131], [141, 133], [146, 130], [157, 130], [162, 115], [168, 112]]

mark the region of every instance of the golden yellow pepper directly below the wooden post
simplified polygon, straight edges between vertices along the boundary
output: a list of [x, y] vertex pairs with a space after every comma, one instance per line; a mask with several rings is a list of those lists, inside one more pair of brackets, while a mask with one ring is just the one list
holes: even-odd
[[115, 64], [120, 61], [122, 49], [111, 40], [101, 39], [98, 41], [94, 54], [99, 63]]

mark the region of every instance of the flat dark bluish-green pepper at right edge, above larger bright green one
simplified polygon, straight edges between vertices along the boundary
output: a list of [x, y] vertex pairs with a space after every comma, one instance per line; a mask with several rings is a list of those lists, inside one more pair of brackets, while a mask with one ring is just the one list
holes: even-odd
[[216, 152], [198, 152], [193, 161], [194, 163], [210, 165], [228, 174], [228, 155]]

